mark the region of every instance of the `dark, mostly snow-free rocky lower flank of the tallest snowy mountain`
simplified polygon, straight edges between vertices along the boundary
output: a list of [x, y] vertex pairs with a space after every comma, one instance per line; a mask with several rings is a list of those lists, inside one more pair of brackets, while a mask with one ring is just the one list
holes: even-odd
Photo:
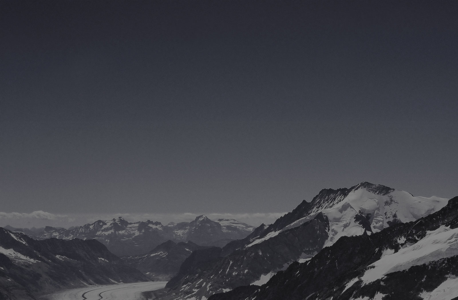
[[221, 257], [221, 248], [196, 251], [186, 259], [180, 273], [166, 288], [174, 291], [172, 298], [174, 295], [202, 297], [221, 289], [250, 284], [262, 274], [284, 268], [291, 263], [291, 257], [313, 256], [327, 240], [328, 228], [327, 217], [318, 214], [315, 219], [282, 235], [247, 249], [235, 250], [225, 257]]

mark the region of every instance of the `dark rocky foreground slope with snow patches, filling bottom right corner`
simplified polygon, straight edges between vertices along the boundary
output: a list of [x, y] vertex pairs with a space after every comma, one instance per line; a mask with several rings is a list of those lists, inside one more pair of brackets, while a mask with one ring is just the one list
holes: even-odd
[[373, 235], [342, 237], [261, 287], [209, 300], [397, 300], [458, 297], [458, 197], [440, 211]]

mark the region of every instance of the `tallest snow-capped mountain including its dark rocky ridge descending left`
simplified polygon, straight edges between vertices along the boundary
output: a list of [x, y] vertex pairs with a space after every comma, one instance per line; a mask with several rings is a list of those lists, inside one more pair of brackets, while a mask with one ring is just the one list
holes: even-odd
[[[183, 268], [167, 284], [173, 299], [205, 299], [241, 285], [263, 284], [289, 264], [313, 257], [340, 237], [371, 235], [390, 225], [417, 220], [447, 204], [447, 199], [414, 197], [390, 187], [362, 182], [323, 189], [274, 224], [223, 248], [201, 250], [208, 263]], [[206, 252], [208, 252], [206, 254]], [[210, 253], [211, 252], [211, 253]], [[215, 255], [215, 253], [217, 255]], [[184, 264], [196, 259], [192, 255]]]

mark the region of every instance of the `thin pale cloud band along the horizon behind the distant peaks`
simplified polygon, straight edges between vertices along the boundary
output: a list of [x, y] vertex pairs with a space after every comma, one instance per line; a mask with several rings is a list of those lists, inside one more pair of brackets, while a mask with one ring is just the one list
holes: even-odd
[[180, 214], [154, 214], [154, 213], [118, 213], [118, 214], [52, 214], [42, 210], [32, 213], [4, 213], [0, 212], [0, 226], [11, 225], [13, 227], [71, 227], [97, 220], [111, 220], [123, 217], [129, 222], [138, 221], [158, 221], [164, 225], [169, 222], [190, 222], [196, 216], [205, 214], [211, 220], [235, 219], [249, 225], [258, 226], [262, 223], [271, 224], [285, 213], [251, 213], [251, 214], [232, 214], [232, 213], [180, 213]]

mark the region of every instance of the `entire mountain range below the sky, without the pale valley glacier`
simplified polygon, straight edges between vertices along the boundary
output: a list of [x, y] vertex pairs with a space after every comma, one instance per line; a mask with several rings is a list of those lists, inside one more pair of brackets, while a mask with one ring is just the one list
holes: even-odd
[[204, 215], [166, 226], [118, 218], [27, 231], [43, 240], [0, 228], [0, 300], [151, 279], [170, 279], [154, 293], [161, 300], [452, 300], [457, 230], [458, 197], [369, 182], [323, 189], [256, 229]]

